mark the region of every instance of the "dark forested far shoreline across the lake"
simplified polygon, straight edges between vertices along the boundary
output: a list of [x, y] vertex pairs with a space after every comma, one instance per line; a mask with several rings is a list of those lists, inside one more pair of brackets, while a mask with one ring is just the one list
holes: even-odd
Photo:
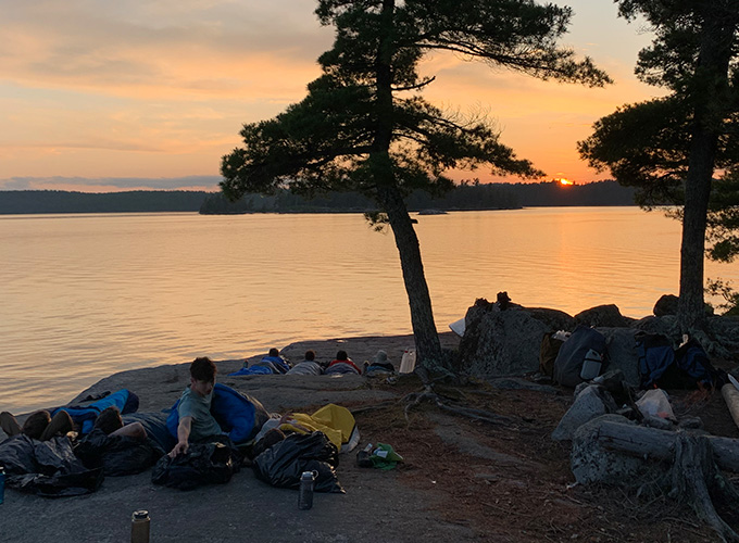
[[[530, 206], [634, 205], [634, 189], [615, 181], [563, 186], [536, 184], [464, 182], [442, 197], [415, 191], [406, 199], [411, 211], [513, 210]], [[62, 190], [0, 191], [0, 214], [35, 213], [347, 213], [374, 210], [373, 202], [356, 192], [328, 192], [313, 198], [280, 190], [264, 197], [246, 194], [229, 202], [221, 192], [187, 190], [134, 190], [124, 192], [72, 192]]]

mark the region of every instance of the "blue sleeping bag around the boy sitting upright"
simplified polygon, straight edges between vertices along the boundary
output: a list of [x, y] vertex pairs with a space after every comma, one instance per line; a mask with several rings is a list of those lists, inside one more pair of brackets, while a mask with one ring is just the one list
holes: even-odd
[[[179, 400], [172, 406], [166, 419], [167, 430], [175, 439], [179, 425], [178, 405]], [[270, 418], [270, 414], [259, 400], [220, 382], [216, 382], [213, 389], [211, 414], [234, 443], [245, 443], [252, 439]]]

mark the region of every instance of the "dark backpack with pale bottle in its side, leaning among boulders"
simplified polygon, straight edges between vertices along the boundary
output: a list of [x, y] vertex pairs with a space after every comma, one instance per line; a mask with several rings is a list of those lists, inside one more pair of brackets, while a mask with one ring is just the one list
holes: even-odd
[[[602, 374], [606, 365], [605, 337], [594, 328], [578, 325], [560, 348], [552, 377], [560, 384], [576, 387]], [[590, 368], [596, 368], [594, 375], [584, 372]]]

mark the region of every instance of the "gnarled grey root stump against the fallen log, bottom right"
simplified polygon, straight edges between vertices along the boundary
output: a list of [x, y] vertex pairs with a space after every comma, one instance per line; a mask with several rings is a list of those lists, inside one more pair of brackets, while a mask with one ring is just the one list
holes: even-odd
[[739, 534], [716, 513], [712, 494], [737, 507], [739, 493], [718, 470], [709, 440], [701, 435], [678, 435], [669, 496], [689, 503], [723, 541], [739, 542]]

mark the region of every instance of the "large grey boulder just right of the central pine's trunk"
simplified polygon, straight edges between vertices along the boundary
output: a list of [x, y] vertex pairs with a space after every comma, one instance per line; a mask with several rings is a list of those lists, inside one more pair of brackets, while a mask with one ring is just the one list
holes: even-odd
[[465, 372], [501, 377], [536, 371], [544, 332], [551, 327], [524, 307], [501, 311], [498, 304], [478, 300], [465, 316], [460, 341], [460, 364]]

